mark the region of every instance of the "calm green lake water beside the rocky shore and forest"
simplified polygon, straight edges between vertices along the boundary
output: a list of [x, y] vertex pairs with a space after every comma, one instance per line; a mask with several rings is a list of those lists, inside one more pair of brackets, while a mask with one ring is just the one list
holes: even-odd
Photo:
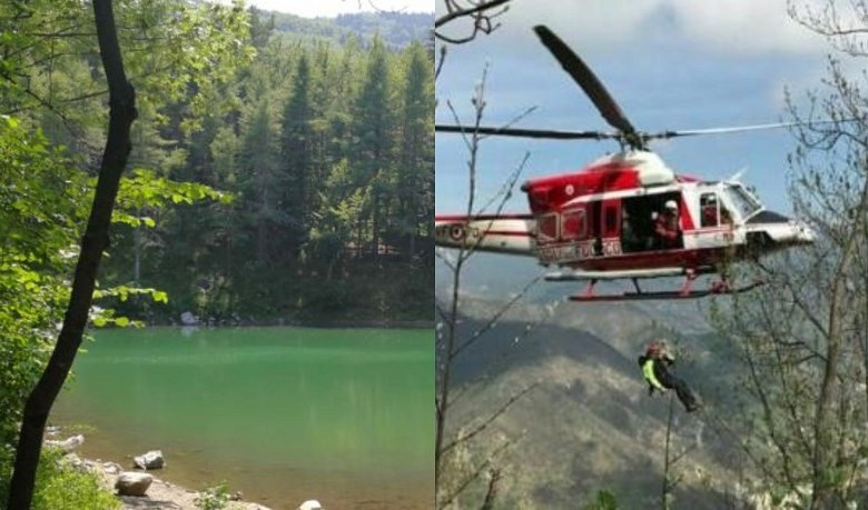
[[82, 453], [130, 466], [161, 449], [160, 478], [226, 480], [295, 509], [431, 508], [431, 330], [177, 328], [99, 331], [52, 422], [87, 426]]

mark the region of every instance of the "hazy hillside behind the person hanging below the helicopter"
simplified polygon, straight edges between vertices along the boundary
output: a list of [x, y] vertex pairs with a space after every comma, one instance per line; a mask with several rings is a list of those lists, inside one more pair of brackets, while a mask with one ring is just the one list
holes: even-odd
[[[466, 300], [460, 338], [468, 338], [500, 306]], [[453, 423], [487, 416], [539, 384], [482, 434], [481, 448], [468, 452], [479, 457], [504, 439], [516, 441], [500, 463], [507, 507], [579, 508], [602, 489], [623, 508], [659, 502], [669, 400], [648, 397], [635, 357], [645, 341], [665, 332], [654, 326], [660, 316], [628, 303], [525, 303], [462, 353], [454, 380], [464, 396], [453, 409]], [[728, 376], [711, 357], [727, 347], [712, 339], [700, 328], [678, 339], [685, 358], [679, 373], [708, 407], [690, 416], [675, 401], [675, 451], [692, 450], [674, 469], [683, 477], [674, 508], [721, 508], [738, 480], [732, 458], [738, 450], [716, 432], [722, 401], [716, 389], [728, 387]]]

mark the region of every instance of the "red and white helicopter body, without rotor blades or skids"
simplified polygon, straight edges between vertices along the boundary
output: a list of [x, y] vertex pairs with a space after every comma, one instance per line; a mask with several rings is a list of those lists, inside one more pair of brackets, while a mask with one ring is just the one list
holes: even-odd
[[[525, 182], [527, 214], [436, 217], [436, 243], [532, 256], [573, 270], [562, 279], [716, 272], [721, 263], [810, 243], [803, 222], [766, 210], [738, 180], [677, 176], [651, 152], [598, 160], [579, 172]], [[678, 204], [678, 237], [655, 231]]]

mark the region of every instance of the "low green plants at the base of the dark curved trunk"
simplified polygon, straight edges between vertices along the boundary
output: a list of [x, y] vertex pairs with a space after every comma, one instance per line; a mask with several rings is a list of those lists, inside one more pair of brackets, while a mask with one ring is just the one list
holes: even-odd
[[[0, 447], [0, 500], [8, 497], [12, 468], [11, 448]], [[111, 510], [120, 508], [115, 496], [105, 489], [91, 472], [82, 472], [66, 463], [62, 452], [45, 449], [37, 472], [33, 510]]]

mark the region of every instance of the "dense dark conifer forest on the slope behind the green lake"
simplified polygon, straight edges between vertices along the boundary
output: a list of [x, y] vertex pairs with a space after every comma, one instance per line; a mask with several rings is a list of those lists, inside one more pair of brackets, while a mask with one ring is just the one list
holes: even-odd
[[[130, 172], [207, 184], [231, 201], [198, 191], [169, 193], [160, 208], [121, 198], [132, 221], [115, 226], [100, 284], [156, 288], [169, 300], [108, 304], [150, 322], [184, 311], [216, 323], [430, 320], [433, 56], [407, 43], [410, 32], [392, 43], [376, 36], [421, 16], [294, 24], [250, 9], [234, 66], [195, 63], [224, 76], [218, 86], [158, 76], [171, 54], [139, 69], [165, 80], [165, 93], [140, 96]], [[328, 27], [327, 37], [312, 27]], [[89, 52], [53, 59], [34, 81], [75, 97], [99, 76], [95, 63]], [[105, 97], [85, 91], [63, 110], [28, 104], [18, 117], [92, 171]]]

